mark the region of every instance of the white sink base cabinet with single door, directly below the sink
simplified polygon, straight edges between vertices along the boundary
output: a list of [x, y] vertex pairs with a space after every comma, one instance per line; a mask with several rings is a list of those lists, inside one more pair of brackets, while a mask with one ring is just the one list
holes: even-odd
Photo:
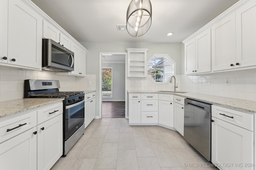
[[[161, 100], [160, 100], [161, 99]], [[174, 102], [172, 94], [159, 94], [158, 124], [173, 127]]]

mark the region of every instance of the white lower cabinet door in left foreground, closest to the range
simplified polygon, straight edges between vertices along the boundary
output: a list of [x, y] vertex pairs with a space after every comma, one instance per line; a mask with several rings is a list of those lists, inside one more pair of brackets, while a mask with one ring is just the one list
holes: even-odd
[[38, 170], [50, 169], [62, 156], [62, 114], [38, 125]]

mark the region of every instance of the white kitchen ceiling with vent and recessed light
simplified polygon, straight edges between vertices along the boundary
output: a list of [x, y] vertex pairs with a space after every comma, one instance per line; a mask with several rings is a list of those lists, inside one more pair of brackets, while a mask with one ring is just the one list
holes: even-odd
[[[181, 42], [238, 0], [151, 0], [152, 25], [141, 37], [117, 31], [131, 0], [32, 0], [78, 41]], [[174, 32], [166, 36], [167, 32]]]

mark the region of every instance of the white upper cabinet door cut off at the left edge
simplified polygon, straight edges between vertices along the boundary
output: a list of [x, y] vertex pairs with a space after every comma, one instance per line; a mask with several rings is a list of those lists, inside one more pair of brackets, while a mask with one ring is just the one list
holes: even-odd
[[[7, 63], [8, 54], [8, 1], [0, 1], [0, 62]], [[6, 57], [6, 58], [5, 58]]]

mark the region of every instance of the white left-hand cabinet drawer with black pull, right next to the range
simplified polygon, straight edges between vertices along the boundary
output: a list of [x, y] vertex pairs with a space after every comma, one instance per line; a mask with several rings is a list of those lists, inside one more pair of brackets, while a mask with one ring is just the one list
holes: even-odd
[[53, 117], [63, 113], [63, 103], [58, 102], [40, 107], [37, 112], [38, 124], [43, 123]]

